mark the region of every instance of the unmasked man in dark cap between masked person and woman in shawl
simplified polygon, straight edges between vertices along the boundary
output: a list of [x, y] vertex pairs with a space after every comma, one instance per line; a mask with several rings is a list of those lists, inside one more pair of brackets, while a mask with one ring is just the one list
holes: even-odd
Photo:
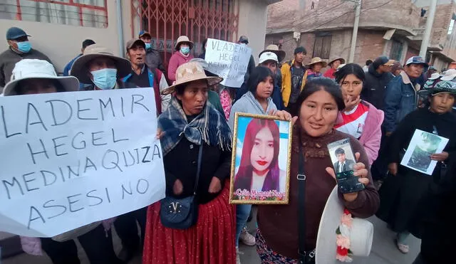
[[164, 111], [171, 100], [171, 95], [161, 95], [168, 88], [168, 83], [163, 73], [155, 68], [152, 70], [145, 63], [146, 45], [144, 41], [136, 38], [127, 42], [127, 58], [131, 62], [131, 73], [123, 78], [124, 83], [132, 83], [138, 87], [153, 88], [157, 115]]

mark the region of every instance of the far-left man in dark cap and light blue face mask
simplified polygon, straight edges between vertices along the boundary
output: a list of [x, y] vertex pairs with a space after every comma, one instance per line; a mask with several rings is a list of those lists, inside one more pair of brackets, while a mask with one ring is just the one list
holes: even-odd
[[36, 58], [38, 60], [47, 60], [51, 63], [48, 56], [31, 48], [31, 43], [28, 41], [29, 35], [21, 28], [15, 26], [6, 31], [6, 41], [9, 48], [0, 54], [0, 92], [6, 83], [11, 78], [11, 73], [19, 60], [24, 58]]

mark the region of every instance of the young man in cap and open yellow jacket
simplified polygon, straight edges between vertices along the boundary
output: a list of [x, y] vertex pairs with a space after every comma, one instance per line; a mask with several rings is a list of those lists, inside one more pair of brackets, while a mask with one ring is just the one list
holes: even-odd
[[306, 85], [306, 69], [304, 68], [303, 61], [307, 51], [303, 46], [294, 49], [294, 59], [287, 61], [282, 65], [282, 98], [284, 99], [284, 106], [291, 115], [296, 115], [298, 100], [301, 90]]

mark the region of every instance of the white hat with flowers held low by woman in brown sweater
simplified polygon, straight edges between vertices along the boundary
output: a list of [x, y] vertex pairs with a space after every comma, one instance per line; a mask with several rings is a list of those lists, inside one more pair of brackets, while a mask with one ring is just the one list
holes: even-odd
[[[336, 186], [329, 195], [321, 215], [318, 236], [316, 238], [316, 264], [340, 263], [336, 260], [336, 230], [341, 226], [344, 206], [338, 197]], [[342, 228], [340, 228], [342, 229]], [[341, 230], [345, 235], [346, 230]], [[353, 257], [366, 257], [371, 253], [373, 241], [373, 224], [366, 219], [352, 218], [349, 228], [350, 250]]]

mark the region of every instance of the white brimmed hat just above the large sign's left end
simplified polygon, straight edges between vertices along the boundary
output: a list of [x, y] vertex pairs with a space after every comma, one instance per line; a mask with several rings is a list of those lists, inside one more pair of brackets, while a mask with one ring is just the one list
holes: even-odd
[[11, 81], [6, 83], [4, 95], [17, 95], [16, 87], [20, 80], [31, 78], [53, 79], [62, 84], [65, 92], [77, 91], [79, 81], [73, 76], [58, 76], [54, 66], [46, 60], [24, 59], [14, 65]]

